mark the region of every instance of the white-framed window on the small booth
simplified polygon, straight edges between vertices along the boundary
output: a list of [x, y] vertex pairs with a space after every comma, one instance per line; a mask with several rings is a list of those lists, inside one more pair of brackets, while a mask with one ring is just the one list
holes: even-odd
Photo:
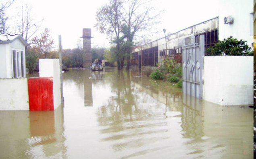
[[25, 54], [24, 50], [12, 49], [12, 77], [25, 77]]

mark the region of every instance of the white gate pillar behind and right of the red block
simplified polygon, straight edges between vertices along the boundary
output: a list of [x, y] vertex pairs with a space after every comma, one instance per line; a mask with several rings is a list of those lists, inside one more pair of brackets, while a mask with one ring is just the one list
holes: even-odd
[[53, 78], [54, 109], [61, 105], [59, 59], [40, 59], [39, 76]]

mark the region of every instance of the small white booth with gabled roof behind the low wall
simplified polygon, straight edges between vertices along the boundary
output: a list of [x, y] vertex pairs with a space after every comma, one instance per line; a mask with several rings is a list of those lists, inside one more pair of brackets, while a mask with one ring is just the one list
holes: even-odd
[[26, 45], [21, 35], [0, 35], [0, 78], [26, 77]]

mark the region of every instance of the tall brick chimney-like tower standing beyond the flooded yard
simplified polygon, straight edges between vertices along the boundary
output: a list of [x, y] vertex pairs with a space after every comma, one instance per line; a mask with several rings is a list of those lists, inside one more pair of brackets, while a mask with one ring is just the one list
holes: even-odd
[[92, 64], [92, 30], [91, 28], [83, 28], [83, 52], [84, 52], [84, 63], [83, 67], [90, 67]]

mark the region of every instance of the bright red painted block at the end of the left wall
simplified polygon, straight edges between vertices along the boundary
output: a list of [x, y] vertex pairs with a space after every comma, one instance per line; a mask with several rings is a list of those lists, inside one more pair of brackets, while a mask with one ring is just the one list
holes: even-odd
[[28, 91], [30, 111], [54, 110], [52, 78], [29, 78]]

